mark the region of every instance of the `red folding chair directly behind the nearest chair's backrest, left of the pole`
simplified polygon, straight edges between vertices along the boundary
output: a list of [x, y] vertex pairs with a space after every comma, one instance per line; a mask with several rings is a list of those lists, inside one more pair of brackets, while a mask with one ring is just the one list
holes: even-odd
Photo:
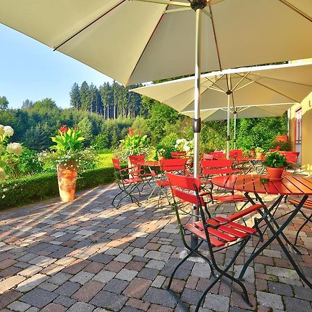
[[159, 202], [162, 197], [166, 197], [170, 205], [170, 198], [168, 197], [167, 188], [169, 186], [169, 181], [166, 177], [166, 173], [176, 173], [179, 175], [188, 175], [189, 171], [187, 170], [187, 159], [162, 159], [159, 161], [159, 175], [160, 178], [156, 180], [156, 183], [159, 187], [159, 198], [158, 198], [158, 207]]

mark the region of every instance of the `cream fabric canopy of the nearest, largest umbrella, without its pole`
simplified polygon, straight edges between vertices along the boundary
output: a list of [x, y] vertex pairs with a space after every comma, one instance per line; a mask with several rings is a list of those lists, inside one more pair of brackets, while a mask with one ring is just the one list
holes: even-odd
[[[132, 85], [194, 73], [189, 2], [1, 0], [0, 22]], [[306, 0], [210, 0], [201, 72], [310, 58], [311, 17]]]

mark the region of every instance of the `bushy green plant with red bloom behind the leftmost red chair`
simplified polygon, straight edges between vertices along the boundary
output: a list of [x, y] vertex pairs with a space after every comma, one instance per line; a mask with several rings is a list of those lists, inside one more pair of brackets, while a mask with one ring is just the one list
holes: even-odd
[[132, 128], [129, 128], [128, 135], [120, 141], [120, 145], [116, 148], [114, 155], [126, 162], [130, 155], [145, 155], [150, 153], [147, 135], [135, 133]]

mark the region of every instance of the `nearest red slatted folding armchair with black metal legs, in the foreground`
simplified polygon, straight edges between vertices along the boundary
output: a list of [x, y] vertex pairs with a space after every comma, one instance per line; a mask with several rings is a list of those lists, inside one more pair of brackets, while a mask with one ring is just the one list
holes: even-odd
[[[189, 311], [187, 306], [180, 300], [175, 292], [171, 289], [171, 284], [173, 281], [173, 277], [175, 276], [175, 272], [177, 272], [178, 268], [187, 261], [189, 257], [192, 255], [197, 255], [198, 257], [207, 261], [211, 268], [211, 275], [214, 277], [214, 281], [205, 289], [205, 291], [200, 296], [198, 303], [196, 304], [195, 311], [197, 312], [200, 309], [202, 301], [205, 299], [205, 296], [209, 292], [209, 290], [221, 279], [221, 277], [227, 277], [230, 281], [238, 284], [243, 293], [241, 293], [245, 302], [250, 304], [248, 293], [244, 284], [239, 280], [233, 277], [228, 273], [228, 270], [233, 266], [236, 258], [239, 256], [246, 243], [250, 240], [251, 236], [258, 236], [262, 241], [262, 234], [259, 230], [258, 223], [259, 220], [255, 218], [254, 227], [246, 227], [245, 225], [241, 225], [237, 223], [236, 220], [239, 220], [243, 216], [247, 216], [252, 214], [254, 211], [260, 211], [263, 206], [262, 205], [252, 205], [243, 211], [239, 211], [236, 214], [232, 214], [227, 217], [216, 216], [214, 218], [211, 217], [209, 211], [207, 211], [207, 204], [200, 195], [200, 180], [195, 177], [186, 177], [181, 175], [174, 175], [171, 173], [166, 173], [168, 180], [170, 182], [171, 191], [173, 194], [173, 209], [175, 210], [175, 214], [177, 217], [177, 223], [179, 225], [180, 234], [182, 236], [182, 242], [189, 251], [187, 256], [184, 257], [173, 270], [171, 277], [169, 279], [169, 283], [167, 286], [167, 290], [175, 300], [179, 304], [182, 305], [184, 311]], [[199, 209], [199, 221], [196, 223], [189, 223], [189, 218], [185, 216], [194, 216], [192, 205], [198, 206]], [[198, 238], [198, 244], [193, 248], [191, 247], [189, 240], [186, 238], [189, 234], [196, 236]], [[210, 257], [205, 257], [199, 250], [202, 243], [207, 243], [209, 255]], [[221, 268], [216, 262], [215, 254], [220, 250], [224, 250], [225, 248], [229, 248], [229, 246], [234, 244], [240, 244], [239, 248], [234, 252], [231, 261], [225, 266], [225, 268]], [[222, 263], [223, 265], [223, 263]], [[215, 275], [214, 270], [218, 272], [218, 275]], [[203, 272], [204, 275], [204, 272]], [[234, 288], [233, 288], [234, 289]]]

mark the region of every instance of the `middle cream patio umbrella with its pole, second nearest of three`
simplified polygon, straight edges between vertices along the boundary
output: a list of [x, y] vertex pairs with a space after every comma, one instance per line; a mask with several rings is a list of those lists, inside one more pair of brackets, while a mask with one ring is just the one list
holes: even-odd
[[[155, 98], [182, 114], [193, 116], [193, 83], [194, 77], [189, 77], [132, 91]], [[236, 105], [250, 107], [300, 103], [312, 92], [312, 62], [215, 71], [200, 76], [200, 85], [202, 117], [205, 118], [205, 110], [227, 107], [225, 119], [227, 119], [227, 157], [229, 157], [230, 107], [233, 107], [234, 112]], [[264, 114], [263, 109], [261, 113], [259, 108], [257, 111], [259, 116]]]

